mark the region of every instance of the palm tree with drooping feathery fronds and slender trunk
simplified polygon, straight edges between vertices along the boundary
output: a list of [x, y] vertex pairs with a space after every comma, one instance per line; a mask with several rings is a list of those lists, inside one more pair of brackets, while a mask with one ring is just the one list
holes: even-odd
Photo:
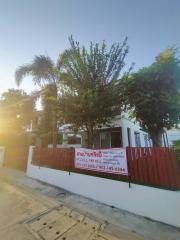
[[[52, 133], [52, 142], [53, 146], [57, 144], [57, 83], [59, 81], [59, 72], [54, 64], [54, 62], [48, 56], [35, 56], [33, 62], [31, 64], [26, 64], [20, 66], [15, 72], [15, 81], [16, 84], [19, 86], [23, 79], [26, 76], [32, 76], [32, 80], [35, 85], [41, 87], [40, 95], [42, 97], [43, 108], [44, 111], [47, 109], [45, 105], [48, 103], [48, 99], [50, 99], [50, 106], [51, 106], [51, 116], [47, 116], [47, 113], [44, 114], [45, 118], [50, 121], [52, 119], [52, 126], [51, 129], [47, 129], [44, 127], [44, 131], [51, 131]], [[47, 97], [47, 90], [50, 89], [51, 98], [48, 95]], [[54, 99], [52, 101], [52, 99]], [[53, 104], [52, 104], [53, 102]]]

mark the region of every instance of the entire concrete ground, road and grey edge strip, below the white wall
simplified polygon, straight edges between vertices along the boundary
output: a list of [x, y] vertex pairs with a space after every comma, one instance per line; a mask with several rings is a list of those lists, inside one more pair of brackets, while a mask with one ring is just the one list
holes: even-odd
[[17, 233], [18, 240], [180, 239], [180, 229], [49, 186], [20, 171], [2, 168], [0, 180], [0, 239], [14, 239]]

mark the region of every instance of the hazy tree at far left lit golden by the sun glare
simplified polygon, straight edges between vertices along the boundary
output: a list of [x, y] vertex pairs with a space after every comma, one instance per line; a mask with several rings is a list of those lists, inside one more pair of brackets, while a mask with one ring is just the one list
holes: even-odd
[[0, 141], [8, 143], [18, 136], [24, 136], [34, 112], [34, 97], [23, 90], [9, 89], [4, 92], [0, 98]]

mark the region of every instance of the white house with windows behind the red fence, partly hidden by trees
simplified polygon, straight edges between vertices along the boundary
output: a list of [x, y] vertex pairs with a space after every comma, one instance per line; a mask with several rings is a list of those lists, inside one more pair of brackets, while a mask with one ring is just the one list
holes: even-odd
[[[63, 133], [63, 143], [59, 146], [84, 147], [86, 136], [83, 131], [73, 134], [70, 124], [60, 128]], [[171, 146], [174, 140], [180, 139], [180, 130], [172, 129], [163, 134], [163, 146]], [[151, 147], [152, 141], [147, 132], [143, 131], [137, 122], [128, 118], [127, 114], [118, 115], [113, 118], [108, 126], [97, 129], [94, 147]]]

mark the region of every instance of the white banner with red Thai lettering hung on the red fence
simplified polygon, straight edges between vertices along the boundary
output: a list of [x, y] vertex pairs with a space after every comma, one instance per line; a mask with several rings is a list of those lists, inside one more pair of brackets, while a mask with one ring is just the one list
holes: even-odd
[[76, 148], [75, 167], [97, 172], [128, 175], [126, 149]]

